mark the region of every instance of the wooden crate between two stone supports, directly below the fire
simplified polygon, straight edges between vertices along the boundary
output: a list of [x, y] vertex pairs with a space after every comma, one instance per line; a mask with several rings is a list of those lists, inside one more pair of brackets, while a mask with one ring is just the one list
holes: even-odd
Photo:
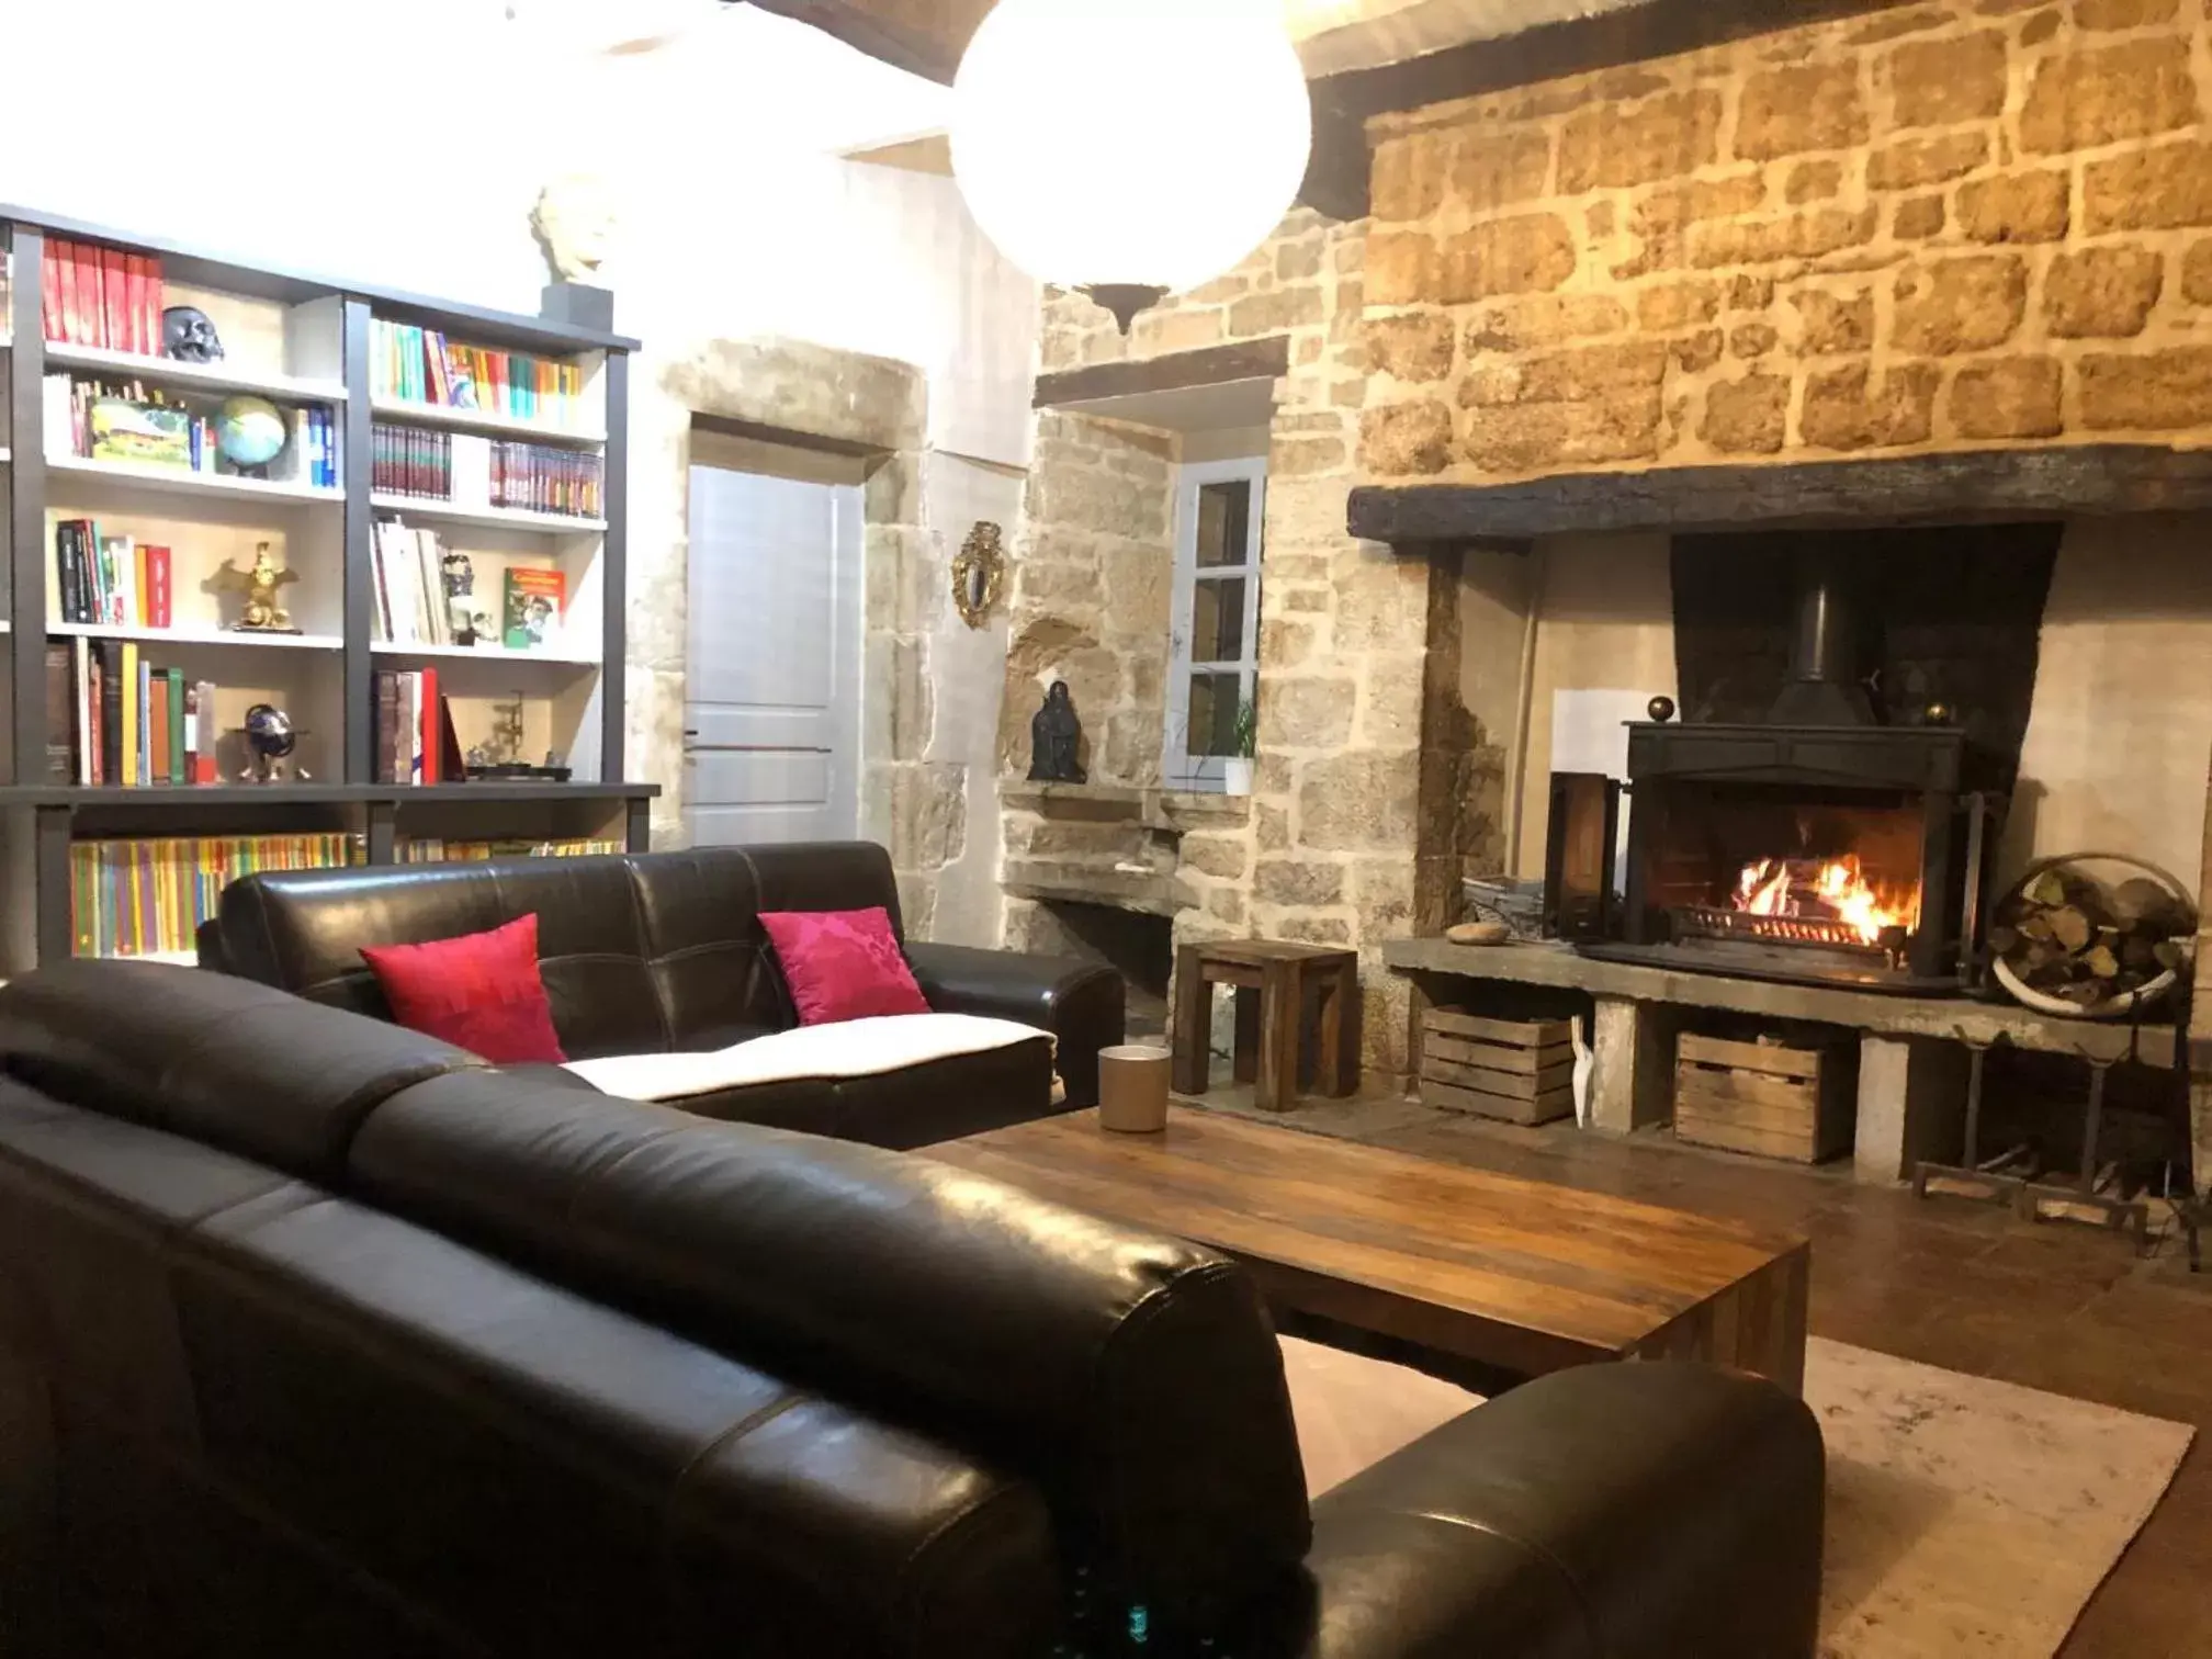
[[1843, 1044], [1787, 1048], [1683, 1031], [1674, 1048], [1674, 1137], [1818, 1164], [1851, 1148], [1858, 1113]]

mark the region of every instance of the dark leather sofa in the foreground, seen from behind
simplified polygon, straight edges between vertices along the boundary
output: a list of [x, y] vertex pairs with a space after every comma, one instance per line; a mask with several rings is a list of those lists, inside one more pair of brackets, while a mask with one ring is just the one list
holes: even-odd
[[1767, 1383], [1559, 1374], [1307, 1506], [1208, 1250], [226, 975], [0, 989], [0, 1261], [11, 1659], [1814, 1652]]

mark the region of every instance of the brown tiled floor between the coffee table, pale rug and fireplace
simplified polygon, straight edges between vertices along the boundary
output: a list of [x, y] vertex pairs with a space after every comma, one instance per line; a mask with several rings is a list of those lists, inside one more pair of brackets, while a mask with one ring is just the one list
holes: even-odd
[[[1208, 1104], [1239, 1110], [1228, 1091]], [[2093, 1228], [2037, 1228], [1962, 1199], [1856, 1186], [1847, 1164], [1805, 1170], [1666, 1135], [1513, 1128], [1396, 1099], [1316, 1102], [1294, 1121], [1798, 1230], [1814, 1245], [1816, 1336], [2197, 1425], [2172, 1491], [2062, 1652], [2212, 1659], [2212, 1272], [2192, 1279], [2179, 1239], [2137, 1261], [2126, 1239]]]

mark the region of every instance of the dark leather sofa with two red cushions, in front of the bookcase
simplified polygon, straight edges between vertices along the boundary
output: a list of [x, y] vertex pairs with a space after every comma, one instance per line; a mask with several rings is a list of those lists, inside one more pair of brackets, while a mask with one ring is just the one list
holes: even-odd
[[[761, 911], [869, 905], [898, 927], [891, 860], [869, 843], [283, 872], [223, 891], [199, 933], [199, 962], [389, 1020], [363, 945], [420, 945], [535, 914], [553, 1024], [571, 1060], [703, 1053], [799, 1022]], [[907, 942], [907, 960], [938, 1013], [1051, 1033], [1066, 1106], [1097, 1104], [1099, 1048], [1124, 1031], [1117, 973], [958, 945]], [[692, 1095], [681, 1106], [872, 1146], [927, 1146], [1048, 1115], [1051, 1048], [1040, 1037], [876, 1077]], [[549, 1082], [584, 1086], [566, 1075]]]

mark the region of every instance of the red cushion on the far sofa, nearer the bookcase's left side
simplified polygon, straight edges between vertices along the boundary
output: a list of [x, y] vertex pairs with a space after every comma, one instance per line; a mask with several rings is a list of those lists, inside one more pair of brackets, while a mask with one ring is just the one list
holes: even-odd
[[493, 1066], [560, 1064], [553, 1004], [538, 973], [538, 918], [429, 945], [363, 945], [392, 1018]]

